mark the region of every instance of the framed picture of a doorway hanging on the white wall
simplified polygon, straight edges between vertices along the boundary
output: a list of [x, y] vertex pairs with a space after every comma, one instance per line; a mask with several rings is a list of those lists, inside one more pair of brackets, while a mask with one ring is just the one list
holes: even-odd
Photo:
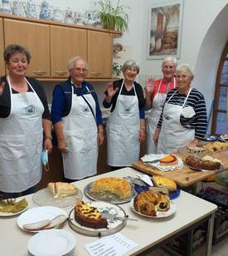
[[148, 59], [180, 57], [183, 0], [154, 3], [148, 10]]

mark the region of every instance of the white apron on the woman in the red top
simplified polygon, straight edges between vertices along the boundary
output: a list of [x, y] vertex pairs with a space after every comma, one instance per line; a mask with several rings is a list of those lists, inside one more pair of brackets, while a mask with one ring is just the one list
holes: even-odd
[[[174, 79], [173, 88], [176, 88], [176, 79], [175, 78], [173, 79]], [[169, 91], [168, 89], [171, 83], [171, 82], [167, 83], [166, 93], [159, 93], [162, 82], [163, 82], [163, 79], [159, 82], [158, 93], [153, 98], [153, 109], [150, 112], [150, 115], [148, 116], [148, 119], [147, 119], [146, 154], [157, 154], [157, 145], [155, 145], [153, 142], [153, 135], [154, 135], [154, 131], [157, 128], [158, 121], [163, 110], [163, 104], [166, 100], [167, 91]]]

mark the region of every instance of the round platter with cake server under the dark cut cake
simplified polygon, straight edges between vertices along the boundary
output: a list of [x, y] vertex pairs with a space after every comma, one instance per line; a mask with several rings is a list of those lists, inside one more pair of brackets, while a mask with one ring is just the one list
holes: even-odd
[[79, 234], [85, 234], [85, 235], [90, 235], [90, 236], [105, 236], [109, 234], [115, 234], [119, 232], [121, 229], [124, 229], [124, 226], [127, 223], [127, 216], [124, 212], [124, 209], [119, 207], [116, 204], [110, 204], [108, 202], [104, 201], [93, 201], [89, 204], [92, 207], [95, 207], [99, 210], [99, 213], [109, 213], [112, 215], [115, 215], [117, 217], [122, 217], [124, 219], [107, 219], [108, 221], [108, 227], [105, 229], [92, 229], [88, 228], [85, 226], [80, 225], [76, 220], [75, 220], [75, 209], [70, 210], [68, 222], [70, 225], [71, 229], [74, 229], [75, 232]]

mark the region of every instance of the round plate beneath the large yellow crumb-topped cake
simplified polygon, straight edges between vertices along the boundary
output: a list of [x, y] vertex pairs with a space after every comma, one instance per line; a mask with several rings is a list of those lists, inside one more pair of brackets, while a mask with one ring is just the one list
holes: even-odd
[[88, 185], [85, 186], [84, 193], [86, 196], [88, 196], [92, 200], [99, 200], [99, 201], [106, 201], [112, 204], [124, 204], [129, 202], [133, 197], [136, 196], [137, 192], [133, 189], [133, 186], [131, 188], [131, 194], [129, 198], [127, 199], [121, 199], [117, 194], [113, 193], [95, 193], [92, 191], [92, 185], [93, 183], [89, 183]]

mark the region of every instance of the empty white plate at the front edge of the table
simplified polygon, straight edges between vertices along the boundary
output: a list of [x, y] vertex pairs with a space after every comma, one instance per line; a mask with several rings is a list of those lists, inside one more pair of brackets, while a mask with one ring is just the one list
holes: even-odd
[[27, 249], [32, 255], [74, 255], [76, 240], [73, 234], [62, 229], [42, 230], [29, 239]]

